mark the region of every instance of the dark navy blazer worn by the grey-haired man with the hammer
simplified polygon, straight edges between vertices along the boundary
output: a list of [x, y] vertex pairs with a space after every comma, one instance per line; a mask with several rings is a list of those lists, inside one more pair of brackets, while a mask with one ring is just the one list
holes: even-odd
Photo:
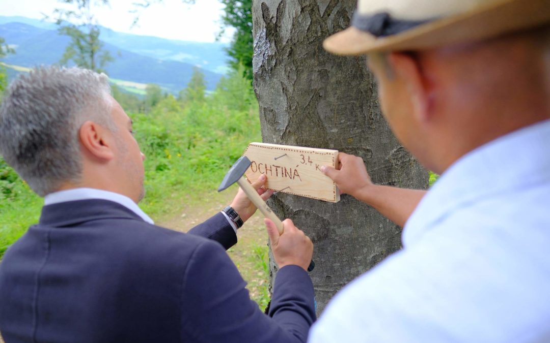
[[224, 251], [237, 237], [222, 213], [190, 233], [108, 200], [43, 207], [0, 263], [4, 340], [306, 341], [315, 310], [304, 269], [279, 270], [266, 316]]

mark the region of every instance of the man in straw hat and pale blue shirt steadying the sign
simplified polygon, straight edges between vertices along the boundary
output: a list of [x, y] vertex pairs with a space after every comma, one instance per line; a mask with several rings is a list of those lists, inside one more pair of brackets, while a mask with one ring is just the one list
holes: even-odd
[[324, 48], [368, 55], [384, 116], [441, 174], [326, 175], [404, 226], [403, 250], [334, 297], [311, 342], [550, 341], [550, 1], [360, 0]]

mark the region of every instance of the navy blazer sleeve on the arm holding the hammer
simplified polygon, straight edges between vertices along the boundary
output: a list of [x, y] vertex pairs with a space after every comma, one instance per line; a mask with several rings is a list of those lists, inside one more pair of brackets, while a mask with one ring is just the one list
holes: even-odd
[[281, 268], [270, 316], [250, 299], [246, 282], [219, 245], [194, 252], [184, 274], [184, 341], [305, 342], [315, 321], [313, 285], [298, 266]]

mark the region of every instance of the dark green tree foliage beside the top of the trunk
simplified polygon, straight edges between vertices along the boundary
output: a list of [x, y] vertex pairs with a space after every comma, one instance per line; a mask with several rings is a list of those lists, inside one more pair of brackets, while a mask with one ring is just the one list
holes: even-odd
[[232, 26], [236, 30], [233, 41], [227, 49], [227, 53], [232, 58], [229, 65], [235, 70], [239, 65], [243, 65], [243, 75], [252, 81], [252, 55], [254, 54], [252, 0], [221, 0], [221, 3], [226, 5], [222, 16], [223, 25]]

